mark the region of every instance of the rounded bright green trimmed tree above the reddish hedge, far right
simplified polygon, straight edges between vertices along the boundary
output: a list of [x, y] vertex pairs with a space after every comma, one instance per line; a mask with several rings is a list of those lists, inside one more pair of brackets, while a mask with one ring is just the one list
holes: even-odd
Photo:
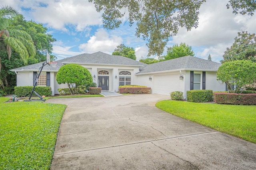
[[[217, 80], [226, 83], [229, 91], [238, 93], [243, 86], [250, 87], [256, 82], [256, 63], [249, 60], [225, 62], [217, 71]], [[236, 89], [232, 89], [232, 85], [236, 85]]]

